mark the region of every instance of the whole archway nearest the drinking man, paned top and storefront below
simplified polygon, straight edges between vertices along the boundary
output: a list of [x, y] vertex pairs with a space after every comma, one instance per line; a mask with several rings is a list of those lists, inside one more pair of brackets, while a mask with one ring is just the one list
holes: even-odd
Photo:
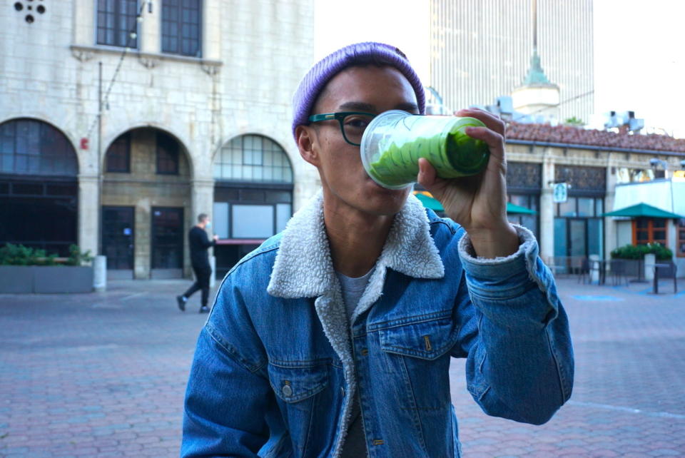
[[293, 168], [278, 143], [259, 135], [238, 136], [214, 158], [216, 275], [285, 228], [293, 213]]

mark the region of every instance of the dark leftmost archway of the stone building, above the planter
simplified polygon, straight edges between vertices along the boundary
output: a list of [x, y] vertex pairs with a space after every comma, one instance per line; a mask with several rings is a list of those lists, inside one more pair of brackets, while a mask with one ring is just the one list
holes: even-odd
[[0, 124], [0, 245], [68, 255], [77, 243], [78, 160], [68, 138], [31, 118]]

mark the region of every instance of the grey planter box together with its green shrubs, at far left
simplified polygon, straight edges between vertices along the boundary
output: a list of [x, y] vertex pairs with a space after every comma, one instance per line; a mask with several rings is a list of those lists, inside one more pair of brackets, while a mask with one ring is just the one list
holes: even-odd
[[77, 245], [68, 258], [45, 250], [6, 244], [0, 248], [0, 292], [91, 292], [93, 258]]

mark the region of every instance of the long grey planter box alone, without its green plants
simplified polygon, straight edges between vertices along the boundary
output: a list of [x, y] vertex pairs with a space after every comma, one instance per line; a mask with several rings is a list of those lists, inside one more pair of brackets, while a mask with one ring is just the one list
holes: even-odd
[[91, 292], [93, 268], [76, 265], [0, 265], [0, 293]]

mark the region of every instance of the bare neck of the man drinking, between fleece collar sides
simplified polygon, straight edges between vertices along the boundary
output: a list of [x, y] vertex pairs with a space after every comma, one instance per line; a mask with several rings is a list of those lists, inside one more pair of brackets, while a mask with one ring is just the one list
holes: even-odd
[[370, 215], [355, 208], [323, 205], [333, 268], [347, 277], [365, 275], [380, 257], [393, 215]]

